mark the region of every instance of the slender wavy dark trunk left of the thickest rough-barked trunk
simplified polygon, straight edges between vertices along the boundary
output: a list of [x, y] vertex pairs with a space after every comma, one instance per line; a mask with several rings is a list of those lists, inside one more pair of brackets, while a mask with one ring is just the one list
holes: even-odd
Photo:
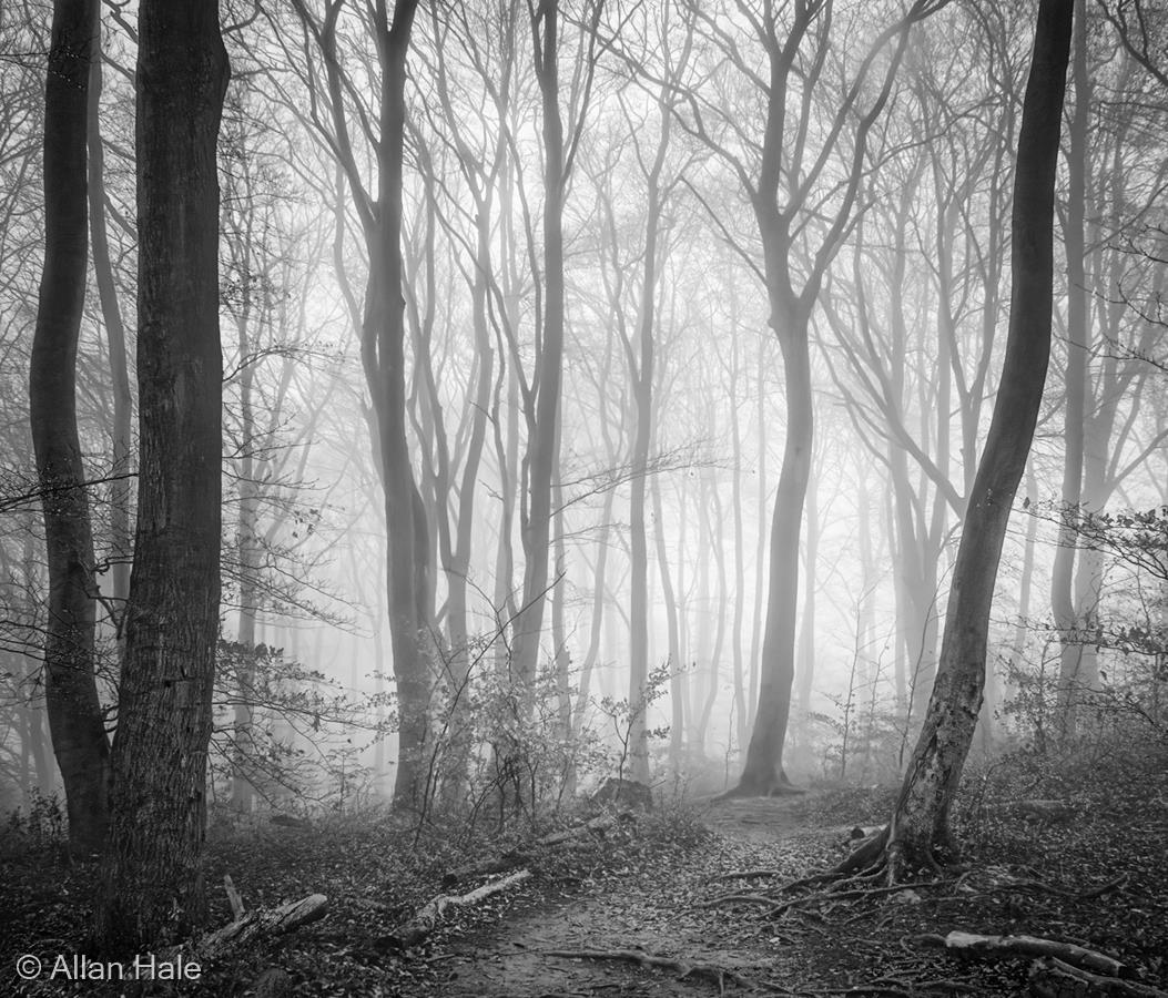
[[77, 337], [85, 302], [86, 107], [96, 0], [56, 0], [44, 86], [44, 270], [29, 416], [49, 570], [44, 697], [74, 851], [100, 849], [110, 748], [93, 676], [93, 535], [77, 438]]

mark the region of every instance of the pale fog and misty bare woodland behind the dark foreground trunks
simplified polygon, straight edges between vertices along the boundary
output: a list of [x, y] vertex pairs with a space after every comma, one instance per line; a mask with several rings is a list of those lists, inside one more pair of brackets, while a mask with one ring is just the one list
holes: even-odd
[[[613, 775], [690, 796], [899, 781], [959, 543], [993, 553], [979, 511], [1013, 488], [978, 477], [1007, 334], [1045, 314], [1041, 406], [997, 430], [1021, 486], [997, 509], [974, 752], [1162, 724], [1168, 26], [1078, 4], [1072, 39], [1071, 6], [1042, 5], [1038, 50], [1063, 63], [1045, 53], [1040, 78], [1031, 4], [224, 2], [217, 138], [209, 63], [150, 62], [214, 51], [214, 23], [183, 42], [167, 5], [6, 7], [6, 807], [60, 786], [60, 677], [85, 677], [57, 709], [92, 732], [61, 775], [92, 787], [99, 726], [159, 675], [134, 656], [169, 655], [180, 682], [199, 658], [209, 688], [216, 619], [188, 845], [204, 807], [391, 800], [426, 821]], [[46, 77], [54, 11], [62, 32], [100, 21], [100, 62]], [[155, 121], [165, 176], [150, 128], [135, 147], [152, 71], [178, 102]], [[1049, 183], [1017, 169], [1028, 81], [1052, 228]], [[71, 172], [42, 167], [54, 135]], [[186, 210], [217, 231], [217, 270], [213, 243], [183, 259], [189, 232], [150, 228], [152, 189], [164, 229]], [[35, 374], [34, 333], [65, 308], [41, 284], [54, 209], [75, 391]], [[1023, 321], [1020, 252], [1043, 230], [1052, 296]], [[204, 306], [217, 287], [222, 406], [196, 285]], [[204, 353], [175, 360], [183, 343]], [[1034, 389], [1040, 367], [1013, 374]], [[60, 421], [72, 462], [40, 477], [30, 371], [32, 426]], [[221, 502], [178, 449], [217, 419]], [[210, 533], [144, 556], [144, 523], [182, 515]], [[142, 710], [165, 734], [179, 703]], [[70, 795], [78, 847], [107, 811], [119, 835], [137, 777], [118, 737], [112, 766], [112, 811]]]

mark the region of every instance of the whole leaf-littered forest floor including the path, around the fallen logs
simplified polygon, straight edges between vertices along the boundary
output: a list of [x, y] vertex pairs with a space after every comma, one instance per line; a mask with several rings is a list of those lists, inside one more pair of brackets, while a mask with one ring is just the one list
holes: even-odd
[[[181, 987], [48, 979], [55, 954], [84, 950], [93, 870], [64, 863], [50, 845], [16, 849], [14, 825], [0, 843], [8, 846], [0, 853], [0, 994], [1107, 993], [1091, 985], [1043, 992], [1028, 979], [1033, 957], [940, 947], [954, 930], [1106, 952], [1131, 977], [1114, 993], [1153, 994], [1168, 989], [1168, 775], [1149, 762], [1119, 755], [1052, 768], [1029, 760], [967, 777], [955, 816], [962, 866], [891, 892], [872, 882], [780, 893], [847, 856], [853, 829], [889, 814], [890, 788], [658, 808], [534, 851], [533, 877], [459, 908], [406, 950], [390, 938], [395, 926], [430, 898], [484, 879], [444, 888], [444, 872], [508, 846], [529, 851], [523, 843], [487, 835], [468, 853], [464, 842], [431, 837], [413, 849], [404, 825], [371, 816], [220, 829], [209, 882], [230, 873], [248, 907], [320, 892], [329, 910], [215, 961], [197, 985]], [[1007, 803], [1022, 798], [1059, 807], [1027, 815]], [[765, 873], [732, 875], [748, 871]], [[216, 923], [225, 923], [223, 891], [214, 894]], [[16, 977], [20, 954], [44, 962], [41, 979]], [[270, 968], [286, 973], [257, 991]]]

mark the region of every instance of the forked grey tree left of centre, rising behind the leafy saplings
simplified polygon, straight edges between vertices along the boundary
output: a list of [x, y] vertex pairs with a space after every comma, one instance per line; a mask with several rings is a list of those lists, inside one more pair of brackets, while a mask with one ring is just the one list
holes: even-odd
[[[402, 253], [403, 151], [406, 131], [406, 57], [417, 0], [385, 0], [357, 13], [361, 29], [376, 46], [377, 65], [361, 71], [376, 81], [356, 83], [347, 72], [354, 60], [338, 50], [345, 0], [326, 0], [317, 19], [305, 0], [293, 0], [305, 32], [325, 64], [325, 92], [306, 68], [310, 113], [306, 124], [334, 156], [361, 223], [369, 272], [361, 315], [361, 361], [373, 402], [370, 431], [385, 510], [385, 572], [390, 642], [398, 698], [398, 765], [394, 798], [409, 805], [425, 782], [422, 746], [429, 725], [430, 634], [432, 613], [429, 529], [406, 435], [405, 300]], [[279, 26], [273, 22], [277, 32]], [[360, 57], [359, 60], [360, 61]], [[371, 106], [361, 95], [371, 90]], [[320, 107], [331, 125], [320, 118]], [[350, 123], [352, 119], [352, 123]], [[377, 167], [376, 187], [363, 177], [353, 134], [364, 135]]]

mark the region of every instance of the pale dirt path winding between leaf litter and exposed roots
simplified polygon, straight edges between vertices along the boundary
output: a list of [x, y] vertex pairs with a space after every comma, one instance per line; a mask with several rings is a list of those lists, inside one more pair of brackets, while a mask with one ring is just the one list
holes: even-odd
[[[695, 966], [773, 977], [792, 958], [773, 927], [701, 907], [717, 877], [753, 866], [802, 868], [825, 833], [812, 826], [806, 797], [707, 804], [711, 837], [697, 850], [616, 882], [578, 887], [563, 900], [512, 912], [443, 956], [442, 994], [453, 998], [558, 996], [709, 996], [717, 980], [698, 969], [640, 966], [631, 961], [571, 959], [552, 950], [626, 950]], [[839, 837], [839, 835], [836, 835]], [[794, 968], [792, 968], [794, 969]]]

